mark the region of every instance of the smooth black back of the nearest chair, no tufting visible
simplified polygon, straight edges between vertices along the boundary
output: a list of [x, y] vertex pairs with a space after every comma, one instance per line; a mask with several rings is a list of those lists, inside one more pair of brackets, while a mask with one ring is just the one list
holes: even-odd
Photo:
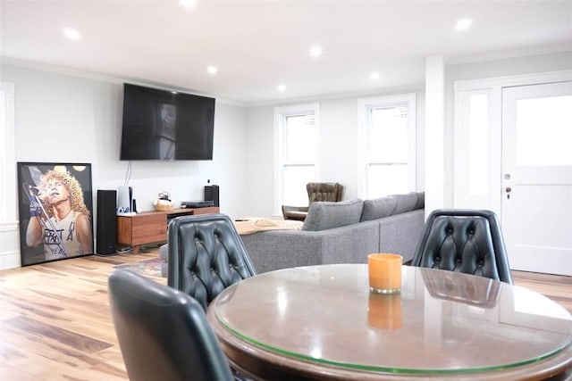
[[109, 302], [125, 368], [132, 381], [231, 380], [231, 368], [189, 295], [118, 269]]

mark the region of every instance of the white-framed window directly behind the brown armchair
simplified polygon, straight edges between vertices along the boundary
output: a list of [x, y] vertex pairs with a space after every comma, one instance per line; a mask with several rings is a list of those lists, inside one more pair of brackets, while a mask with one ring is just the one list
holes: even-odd
[[282, 204], [307, 205], [306, 184], [317, 178], [319, 105], [274, 109], [278, 197]]

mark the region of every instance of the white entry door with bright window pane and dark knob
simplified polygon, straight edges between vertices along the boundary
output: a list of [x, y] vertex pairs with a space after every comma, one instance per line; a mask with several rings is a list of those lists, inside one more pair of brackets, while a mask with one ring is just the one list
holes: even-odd
[[510, 268], [572, 276], [572, 81], [502, 89], [501, 181]]

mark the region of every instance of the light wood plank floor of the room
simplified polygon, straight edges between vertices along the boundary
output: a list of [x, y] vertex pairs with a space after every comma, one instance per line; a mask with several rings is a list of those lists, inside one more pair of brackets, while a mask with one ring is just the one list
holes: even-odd
[[[125, 380], [107, 301], [114, 266], [157, 252], [0, 271], [0, 380]], [[513, 272], [572, 313], [572, 277]], [[155, 278], [166, 283], [164, 278]]]

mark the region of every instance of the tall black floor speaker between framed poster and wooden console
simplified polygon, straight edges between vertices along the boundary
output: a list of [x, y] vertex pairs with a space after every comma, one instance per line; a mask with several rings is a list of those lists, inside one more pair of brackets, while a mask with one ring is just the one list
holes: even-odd
[[116, 190], [97, 190], [97, 254], [117, 251]]

